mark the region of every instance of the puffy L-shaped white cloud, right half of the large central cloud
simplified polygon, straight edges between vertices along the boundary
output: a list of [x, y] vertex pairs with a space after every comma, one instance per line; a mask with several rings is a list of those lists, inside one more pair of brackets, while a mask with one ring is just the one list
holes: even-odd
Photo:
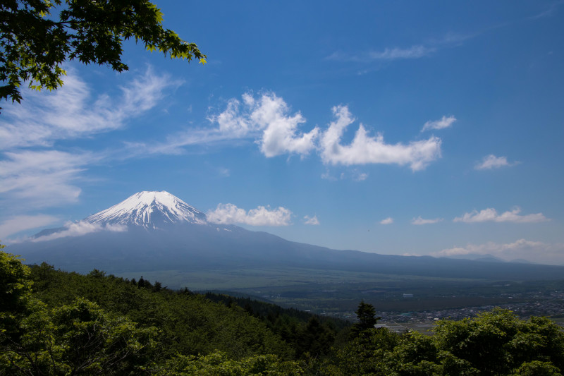
[[341, 145], [345, 128], [355, 119], [348, 107], [333, 107], [336, 120], [321, 134], [321, 159], [326, 164], [410, 164], [413, 171], [421, 170], [435, 159], [441, 157], [441, 140], [431, 137], [429, 140], [410, 142], [409, 145], [386, 144], [381, 134], [376, 138], [367, 135], [360, 124], [355, 138], [350, 145]]

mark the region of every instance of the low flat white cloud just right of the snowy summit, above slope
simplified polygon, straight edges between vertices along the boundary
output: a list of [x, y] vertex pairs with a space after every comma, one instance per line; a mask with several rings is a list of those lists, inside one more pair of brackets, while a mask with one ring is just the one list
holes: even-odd
[[233, 204], [219, 204], [207, 212], [207, 220], [217, 224], [249, 224], [251, 226], [288, 226], [292, 212], [284, 207], [271, 210], [259, 206], [246, 212]]

